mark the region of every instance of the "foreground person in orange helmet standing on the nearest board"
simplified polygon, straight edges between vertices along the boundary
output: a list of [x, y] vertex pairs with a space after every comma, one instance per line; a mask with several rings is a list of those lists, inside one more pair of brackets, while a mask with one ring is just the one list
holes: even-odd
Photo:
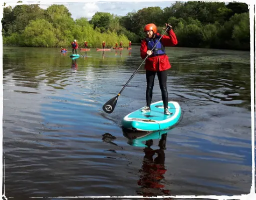
[[162, 93], [162, 100], [164, 105], [164, 114], [171, 114], [168, 110], [168, 92], [167, 92], [167, 70], [171, 68], [168, 56], [165, 52], [165, 46], [175, 46], [178, 41], [176, 34], [174, 33], [172, 26], [169, 23], [165, 23], [166, 28], [169, 29], [166, 31], [168, 35], [163, 35], [161, 40], [158, 42], [156, 47], [151, 51], [155, 43], [161, 37], [161, 34], [157, 32], [157, 27], [154, 23], [149, 23], [144, 26], [144, 32], [146, 38], [141, 41], [140, 47], [140, 56], [145, 60], [145, 69], [146, 69], [146, 80], [147, 80], [147, 89], [146, 89], [146, 106], [141, 110], [142, 112], [150, 112], [150, 104], [153, 93], [153, 86], [155, 80], [155, 74], [157, 73], [159, 86]]

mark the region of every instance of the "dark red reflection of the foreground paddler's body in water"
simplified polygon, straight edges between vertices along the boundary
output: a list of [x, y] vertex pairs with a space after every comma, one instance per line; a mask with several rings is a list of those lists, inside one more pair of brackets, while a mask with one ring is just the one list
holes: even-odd
[[[163, 174], [166, 172], [164, 161], [165, 161], [165, 143], [167, 133], [161, 135], [159, 141], [159, 149], [153, 150], [153, 140], [149, 139], [146, 141], [147, 147], [144, 148], [145, 156], [143, 159], [142, 168], [140, 169], [141, 175], [138, 180], [138, 185], [141, 186], [142, 190], [137, 191], [139, 195], [168, 195], [170, 191], [164, 188], [164, 184], [161, 180], [164, 178]], [[153, 159], [153, 156], [157, 154], [157, 157]]]

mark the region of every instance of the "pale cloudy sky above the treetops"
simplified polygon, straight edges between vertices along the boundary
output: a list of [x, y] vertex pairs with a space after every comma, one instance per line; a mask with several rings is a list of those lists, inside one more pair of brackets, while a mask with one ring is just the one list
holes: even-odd
[[[18, 0], [5, 0], [7, 3], [11, 3], [12, 7], [17, 5]], [[72, 2], [73, 1], [73, 2]], [[82, 1], [82, 2], [74, 2], [74, 1]], [[95, 14], [95, 12], [110, 12], [111, 14], [117, 14], [121, 16], [125, 16], [128, 12], [137, 11], [144, 7], [150, 6], [160, 6], [161, 8], [171, 6], [175, 1], [170, 0], [133, 0], [125, 1], [125, 0], [42, 0], [40, 2], [40, 7], [47, 8], [52, 4], [52, 2], [58, 2], [58, 4], [64, 4], [72, 14], [73, 19], [77, 19], [80, 17], [86, 17], [89, 20]], [[117, 2], [111, 2], [117, 1]], [[38, 3], [38, 1], [25, 1], [23, 2], [34, 2]], [[44, 3], [42, 3], [44, 2]], [[27, 3], [26, 3], [27, 4]]]

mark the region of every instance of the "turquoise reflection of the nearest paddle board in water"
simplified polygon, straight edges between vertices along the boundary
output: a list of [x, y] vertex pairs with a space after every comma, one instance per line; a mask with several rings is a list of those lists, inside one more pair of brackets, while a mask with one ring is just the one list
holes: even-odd
[[147, 147], [147, 145], [145, 145], [143, 141], [147, 141], [149, 139], [161, 139], [161, 135], [164, 133], [168, 133], [168, 131], [170, 130], [158, 130], [154, 132], [123, 130], [123, 134], [126, 138], [129, 139], [128, 144], [132, 146]]

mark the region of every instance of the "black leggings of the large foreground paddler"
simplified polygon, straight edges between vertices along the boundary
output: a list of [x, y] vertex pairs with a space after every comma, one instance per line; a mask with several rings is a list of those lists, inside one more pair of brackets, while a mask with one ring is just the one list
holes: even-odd
[[147, 90], [146, 90], [146, 99], [147, 99], [147, 106], [150, 106], [153, 87], [154, 87], [154, 80], [155, 74], [157, 73], [157, 77], [159, 80], [159, 86], [162, 92], [162, 100], [164, 108], [168, 107], [168, 92], [166, 88], [166, 81], [167, 81], [167, 70], [164, 71], [149, 71], [146, 70], [146, 78], [147, 78]]

